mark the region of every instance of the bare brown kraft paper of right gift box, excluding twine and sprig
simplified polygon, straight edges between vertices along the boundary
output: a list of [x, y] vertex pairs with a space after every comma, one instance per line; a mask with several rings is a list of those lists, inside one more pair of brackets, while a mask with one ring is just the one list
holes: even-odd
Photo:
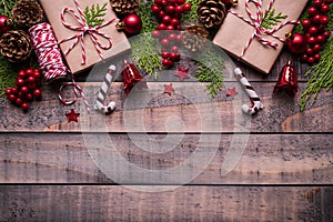
[[[258, 0], [258, 2], [260, 1]], [[262, 0], [262, 12], [269, 8], [270, 2], [270, 0]], [[281, 20], [281, 23], [283, 23], [286, 20], [297, 20], [306, 3], [307, 0], [275, 0], [273, 1], [271, 9], [275, 10], [274, 14], [281, 12], [283, 16], [286, 16], [285, 19]], [[242, 16], [245, 20], [251, 20], [246, 12], [245, 0], [239, 0], [239, 6], [231, 10]], [[249, 10], [255, 18], [259, 8], [249, 1]], [[279, 27], [279, 24], [272, 28], [274, 29], [276, 27]], [[291, 32], [293, 28], [294, 24], [285, 24], [276, 32], [273, 32], [273, 34], [285, 40], [285, 34]], [[261, 32], [262, 38], [276, 43], [276, 48], [264, 46], [259, 41], [259, 38], [254, 37], [248, 49], [244, 51], [244, 48], [246, 48], [246, 44], [254, 32], [255, 28], [253, 26], [229, 12], [221, 28], [216, 32], [213, 42], [260, 72], [269, 73], [284, 43], [270, 34]], [[243, 51], [244, 54], [242, 56]]]

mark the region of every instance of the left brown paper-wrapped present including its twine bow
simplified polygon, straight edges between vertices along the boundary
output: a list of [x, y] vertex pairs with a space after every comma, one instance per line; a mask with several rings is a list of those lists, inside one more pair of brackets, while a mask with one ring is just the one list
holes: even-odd
[[[125, 34], [115, 28], [118, 20], [109, 0], [40, 0], [40, 3], [72, 73], [81, 72], [131, 48]], [[82, 18], [87, 7], [94, 7], [95, 11], [97, 7], [105, 9], [97, 18], [103, 20], [100, 26], [89, 27], [84, 23]]]

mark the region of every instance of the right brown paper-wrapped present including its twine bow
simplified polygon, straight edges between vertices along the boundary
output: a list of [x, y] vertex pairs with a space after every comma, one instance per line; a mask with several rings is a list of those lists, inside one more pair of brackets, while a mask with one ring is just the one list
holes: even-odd
[[[232, 8], [213, 42], [240, 60], [269, 73], [307, 0], [240, 0]], [[269, 16], [266, 16], [269, 14]], [[263, 18], [280, 17], [269, 24]]]

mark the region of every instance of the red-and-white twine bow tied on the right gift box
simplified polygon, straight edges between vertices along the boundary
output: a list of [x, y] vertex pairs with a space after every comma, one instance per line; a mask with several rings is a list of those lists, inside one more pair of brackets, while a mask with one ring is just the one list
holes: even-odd
[[[254, 28], [254, 32], [252, 33], [252, 36], [250, 37], [249, 41], [246, 42], [245, 47], [242, 50], [242, 53], [240, 54], [239, 58], [244, 57], [246, 50], [249, 49], [251, 42], [253, 41], [254, 38], [256, 38], [259, 40], [259, 42], [261, 42], [263, 46], [269, 46], [272, 47], [274, 49], [276, 49], [278, 43], [270, 41], [268, 39], [265, 39], [263, 37], [263, 34], [268, 34], [273, 37], [274, 39], [278, 39], [281, 42], [284, 42], [284, 39], [278, 37], [276, 34], [274, 34], [276, 31], [279, 31], [280, 29], [282, 29], [284, 26], [286, 24], [296, 24], [299, 23], [299, 20], [285, 20], [282, 23], [280, 23], [278, 27], [273, 28], [273, 29], [265, 29], [262, 27], [262, 22], [264, 21], [266, 14], [270, 12], [270, 10], [272, 10], [272, 7], [274, 4], [275, 0], [270, 0], [270, 3], [268, 6], [266, 10], [262, 9], [262, 0], [246, 0], [245, 1], [245, 10], [246, 13], [249, 14], [250, 19], [244, 18], [242, 14], [230, 10], [229, 12], [236, 16], [238, 18], [242, 19], [244, 22], [249, 23], [250, 26], [252, 26]], [[250, 10], [250, 3], [254, 3], [256, 11], [255, 14], [253, 16], [253, 13]]]

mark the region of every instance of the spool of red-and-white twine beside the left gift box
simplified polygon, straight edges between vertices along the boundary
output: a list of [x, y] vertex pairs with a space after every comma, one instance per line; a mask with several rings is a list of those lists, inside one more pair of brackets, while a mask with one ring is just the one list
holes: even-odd
[[62, 61], [52, 27], [43, 22], [31, 27], [29, 33], [44, 81], [65, 78], [68, 69]]

